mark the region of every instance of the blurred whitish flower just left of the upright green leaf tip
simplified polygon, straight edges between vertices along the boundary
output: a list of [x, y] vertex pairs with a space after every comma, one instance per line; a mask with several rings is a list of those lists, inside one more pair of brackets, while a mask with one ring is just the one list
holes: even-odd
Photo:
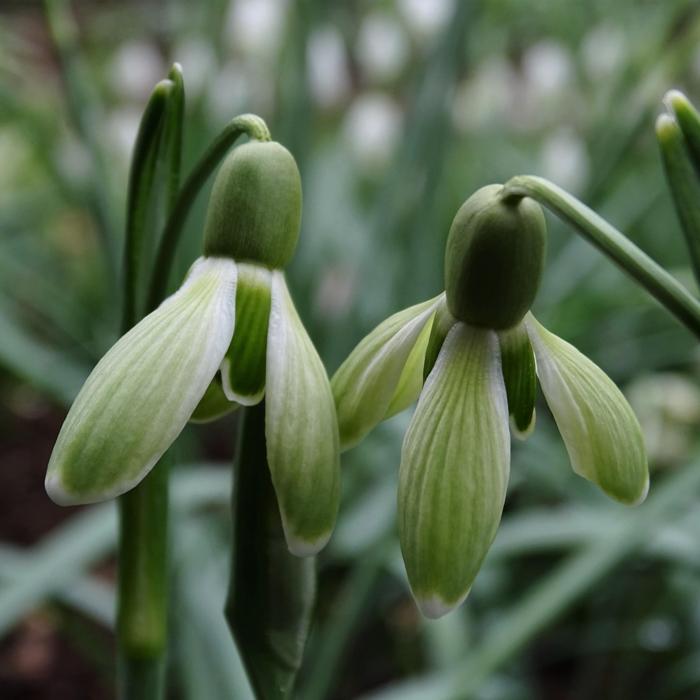
[[167, 68], [156, 46], [147, 41], [127, 41], [115, 51], [107, 73], [118, 96], [143, 102]]

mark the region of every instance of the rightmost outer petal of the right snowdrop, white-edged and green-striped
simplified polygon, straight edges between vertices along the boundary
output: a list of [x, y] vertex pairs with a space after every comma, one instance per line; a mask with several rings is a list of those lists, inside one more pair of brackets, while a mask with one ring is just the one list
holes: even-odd
[[612, 380], [532, 315], [527, 330], [537, 374], [574, 471], [623, 503], [649, 490], [644, 438], [631, 406]]

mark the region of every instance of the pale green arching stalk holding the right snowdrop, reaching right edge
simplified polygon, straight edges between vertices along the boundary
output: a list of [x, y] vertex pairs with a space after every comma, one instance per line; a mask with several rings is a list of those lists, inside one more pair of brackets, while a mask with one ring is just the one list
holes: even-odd
[[543, 204], [607, 255], [700, 338], [700, 302], [627, 236], [576, 197], [534, 175], [520, 175], [508, 180], [503, 186], [503, 196], [531, 197]]

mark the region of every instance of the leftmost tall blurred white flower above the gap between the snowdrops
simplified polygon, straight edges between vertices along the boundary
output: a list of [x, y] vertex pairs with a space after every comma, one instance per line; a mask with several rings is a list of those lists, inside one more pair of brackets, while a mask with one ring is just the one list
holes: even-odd
[[345, 46], [340, 32], [331, 25], [316, 29], [306, 47], [307, 79], [315, 102], [322, 108], [336, 107], [350, 93]]

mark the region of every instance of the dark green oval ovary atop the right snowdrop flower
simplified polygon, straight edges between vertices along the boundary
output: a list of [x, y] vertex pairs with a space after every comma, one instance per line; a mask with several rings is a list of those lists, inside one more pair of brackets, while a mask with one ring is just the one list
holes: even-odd
[[529, 310], [544, 266], [547, 229], [527, 197], [501, 197], [501, 185], [475, 192], [452, 222], [445, 289], [452, 315], [472, 326], [511, 328]]

